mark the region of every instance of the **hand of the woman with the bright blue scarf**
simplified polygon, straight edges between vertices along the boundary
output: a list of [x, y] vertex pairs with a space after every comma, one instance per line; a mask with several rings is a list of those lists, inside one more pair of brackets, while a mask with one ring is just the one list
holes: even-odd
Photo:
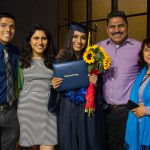
[[143, 104], [139, 104], [139, 107], [131, 110], [135, 116], [141, 118], [146, 114], [146, 107]]

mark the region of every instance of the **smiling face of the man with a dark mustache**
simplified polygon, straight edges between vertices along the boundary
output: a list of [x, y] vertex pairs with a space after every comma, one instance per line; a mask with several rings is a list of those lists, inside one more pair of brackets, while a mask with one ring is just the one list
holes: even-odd
[[128, 25], [121, 17], [111, 18], [107, 25], [109, 38], [116, 45], [120, 45], [128, 37]]

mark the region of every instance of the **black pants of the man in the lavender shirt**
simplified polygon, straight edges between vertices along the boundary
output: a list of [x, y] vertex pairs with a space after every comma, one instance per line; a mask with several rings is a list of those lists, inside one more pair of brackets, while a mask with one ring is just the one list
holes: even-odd
[[105, 112], [107, 150], [124, 150], [128, 110], [109, 110]]

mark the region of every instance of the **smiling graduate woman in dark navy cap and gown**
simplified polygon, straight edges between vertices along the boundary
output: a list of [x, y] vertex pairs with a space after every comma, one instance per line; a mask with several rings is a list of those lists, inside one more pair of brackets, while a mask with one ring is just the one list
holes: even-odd
[[[71, 24], [66, 37], [63, 57], [57, 62], [67, 62], [82, 59], [87, 45], [88, 30], [80, 24]], [[90, 75], [89, 81], [95, 85], [102, 84], [101, 78]], [[60, 150], [105, 150], [104, 119], [101, 108], [102, 93], [96, 93], [96, 111], [92, 117], [84, 112], [85, 94], [82, 89], [57, 92], [63, 82], [53, 78], [48, 109], [58, 114], [58, 143]], [[98, 86], [101, 88], [102, 86]], [[83, 89], [84, 90], [84, 89]], [[81, 102], [76, 94], [80, 92]], [[70, 94], [71, 93], [71, 94]], [[84, 93], [84, 92], [83, 92]], [[70, 96], [72, 95], [72, 96]]]

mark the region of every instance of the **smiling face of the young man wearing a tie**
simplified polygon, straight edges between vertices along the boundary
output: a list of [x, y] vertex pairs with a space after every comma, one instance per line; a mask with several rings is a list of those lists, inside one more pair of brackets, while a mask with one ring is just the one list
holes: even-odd
[[3, 17], [0, 19], [0, 42], [8, 44], [15, 34], [15, 21], [11, 18]]

